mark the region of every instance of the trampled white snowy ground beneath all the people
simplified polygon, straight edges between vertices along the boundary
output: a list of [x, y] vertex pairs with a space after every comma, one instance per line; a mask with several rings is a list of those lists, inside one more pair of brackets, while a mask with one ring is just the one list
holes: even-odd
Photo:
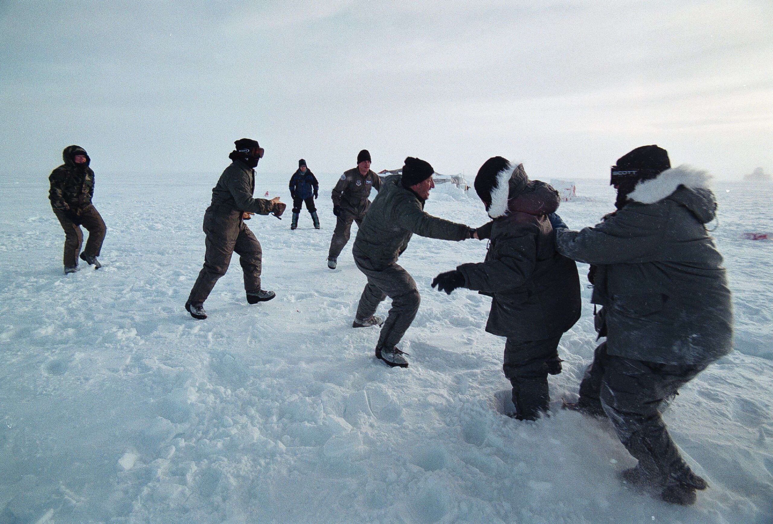
[[[258, 174], [256, 194], [287, 199], [286, 176]], [[430, 288], [438, 272], [482, 260], [485, 243], [414, 237], [401, 258], [422, 294], [402, 345], [410, 368], [373, 359], [378, 330], [350, 327], [365, 283], [351, 243], [338, 270], [325, 267], [334, 176], [322, 182], [321, 231], [305, 211], [295, 232], [289, 217], [249, 223], [278, 298], [248, 306], [234, 259], [210, 318], [190, 318], [215, 180], [97, 171], [106, 267], [64, 276], [46, 177], [0, 179], [0, 523], [773, 520], [773, 242], [739, 238], [773, 233], [773, 213], [750, 186], [717, 189], [736, 351], [666, 414], [711, 485], [680, 508], [618, 482], [633, 461], [607, 422], [502, 415], [509, 383], [504, 340], [483, 331], [489, 299]], [[611, 210], [603, 182], [578, 191], [590, 198], [560, 209], [570, 226]], [[427, 211], [485, 222], [472, 192], [438, 188]], [[583, 294], [554, 404], [574, 395], [594, 349]]]

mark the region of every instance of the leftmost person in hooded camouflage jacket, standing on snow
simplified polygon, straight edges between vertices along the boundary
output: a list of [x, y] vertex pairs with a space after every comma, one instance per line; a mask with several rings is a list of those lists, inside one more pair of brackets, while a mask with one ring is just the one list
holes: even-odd
[[107, 227], [104, 220], [91, 203], [94, 198], [94, 171], [89, 164], [91, 158], [79, 145], [68, 145], [62, 151], [64, 164], [54, 169], [49, 176], [51, 189], [49, 200], [51, 208], [64, 230], [64, 273], [78, 271], [78, 253], [83, 245], [83, 231], [86, 228], [89, 237], [86, 248], [80, 253], [80, 259], [99, 269], [100, 250], [104, 242]]

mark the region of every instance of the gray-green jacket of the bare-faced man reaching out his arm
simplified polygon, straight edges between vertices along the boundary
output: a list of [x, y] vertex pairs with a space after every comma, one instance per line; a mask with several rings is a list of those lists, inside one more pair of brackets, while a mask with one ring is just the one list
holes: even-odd
[[424, 201], [400, 185], [402, 175], [382, 180], [379, 194], [359, 226], [354, 249], [368, 257], [373, 267], [386, 267], [408, 247], [416, 233], [441, 240], [465, 240], [472, 230], [464, 224], [424, 212]]

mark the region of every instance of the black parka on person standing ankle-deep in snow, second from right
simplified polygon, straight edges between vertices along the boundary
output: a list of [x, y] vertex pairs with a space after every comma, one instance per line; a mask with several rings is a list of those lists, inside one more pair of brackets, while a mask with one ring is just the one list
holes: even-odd
[[547, 215], [560, 199], [550, 185], [530, 182], [530, 190], [508, 201], [508, 214], [478, 229], [491, 243], [485, 261], [461, 264], [465, 288], [492, 297], [485, 330], [521, 342], [561, 335], [580, 318], [577, 264], [555, 249]]

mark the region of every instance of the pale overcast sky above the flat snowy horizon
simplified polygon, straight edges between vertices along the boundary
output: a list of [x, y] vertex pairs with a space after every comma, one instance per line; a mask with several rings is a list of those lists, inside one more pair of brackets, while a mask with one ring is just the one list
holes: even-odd
[[773, 2], [0, 0], [0, 172], [70, 144], [98, 172], [342, 172], [407, 155], [474, 178], [607, 177], [645, 144], [773, 172]]

